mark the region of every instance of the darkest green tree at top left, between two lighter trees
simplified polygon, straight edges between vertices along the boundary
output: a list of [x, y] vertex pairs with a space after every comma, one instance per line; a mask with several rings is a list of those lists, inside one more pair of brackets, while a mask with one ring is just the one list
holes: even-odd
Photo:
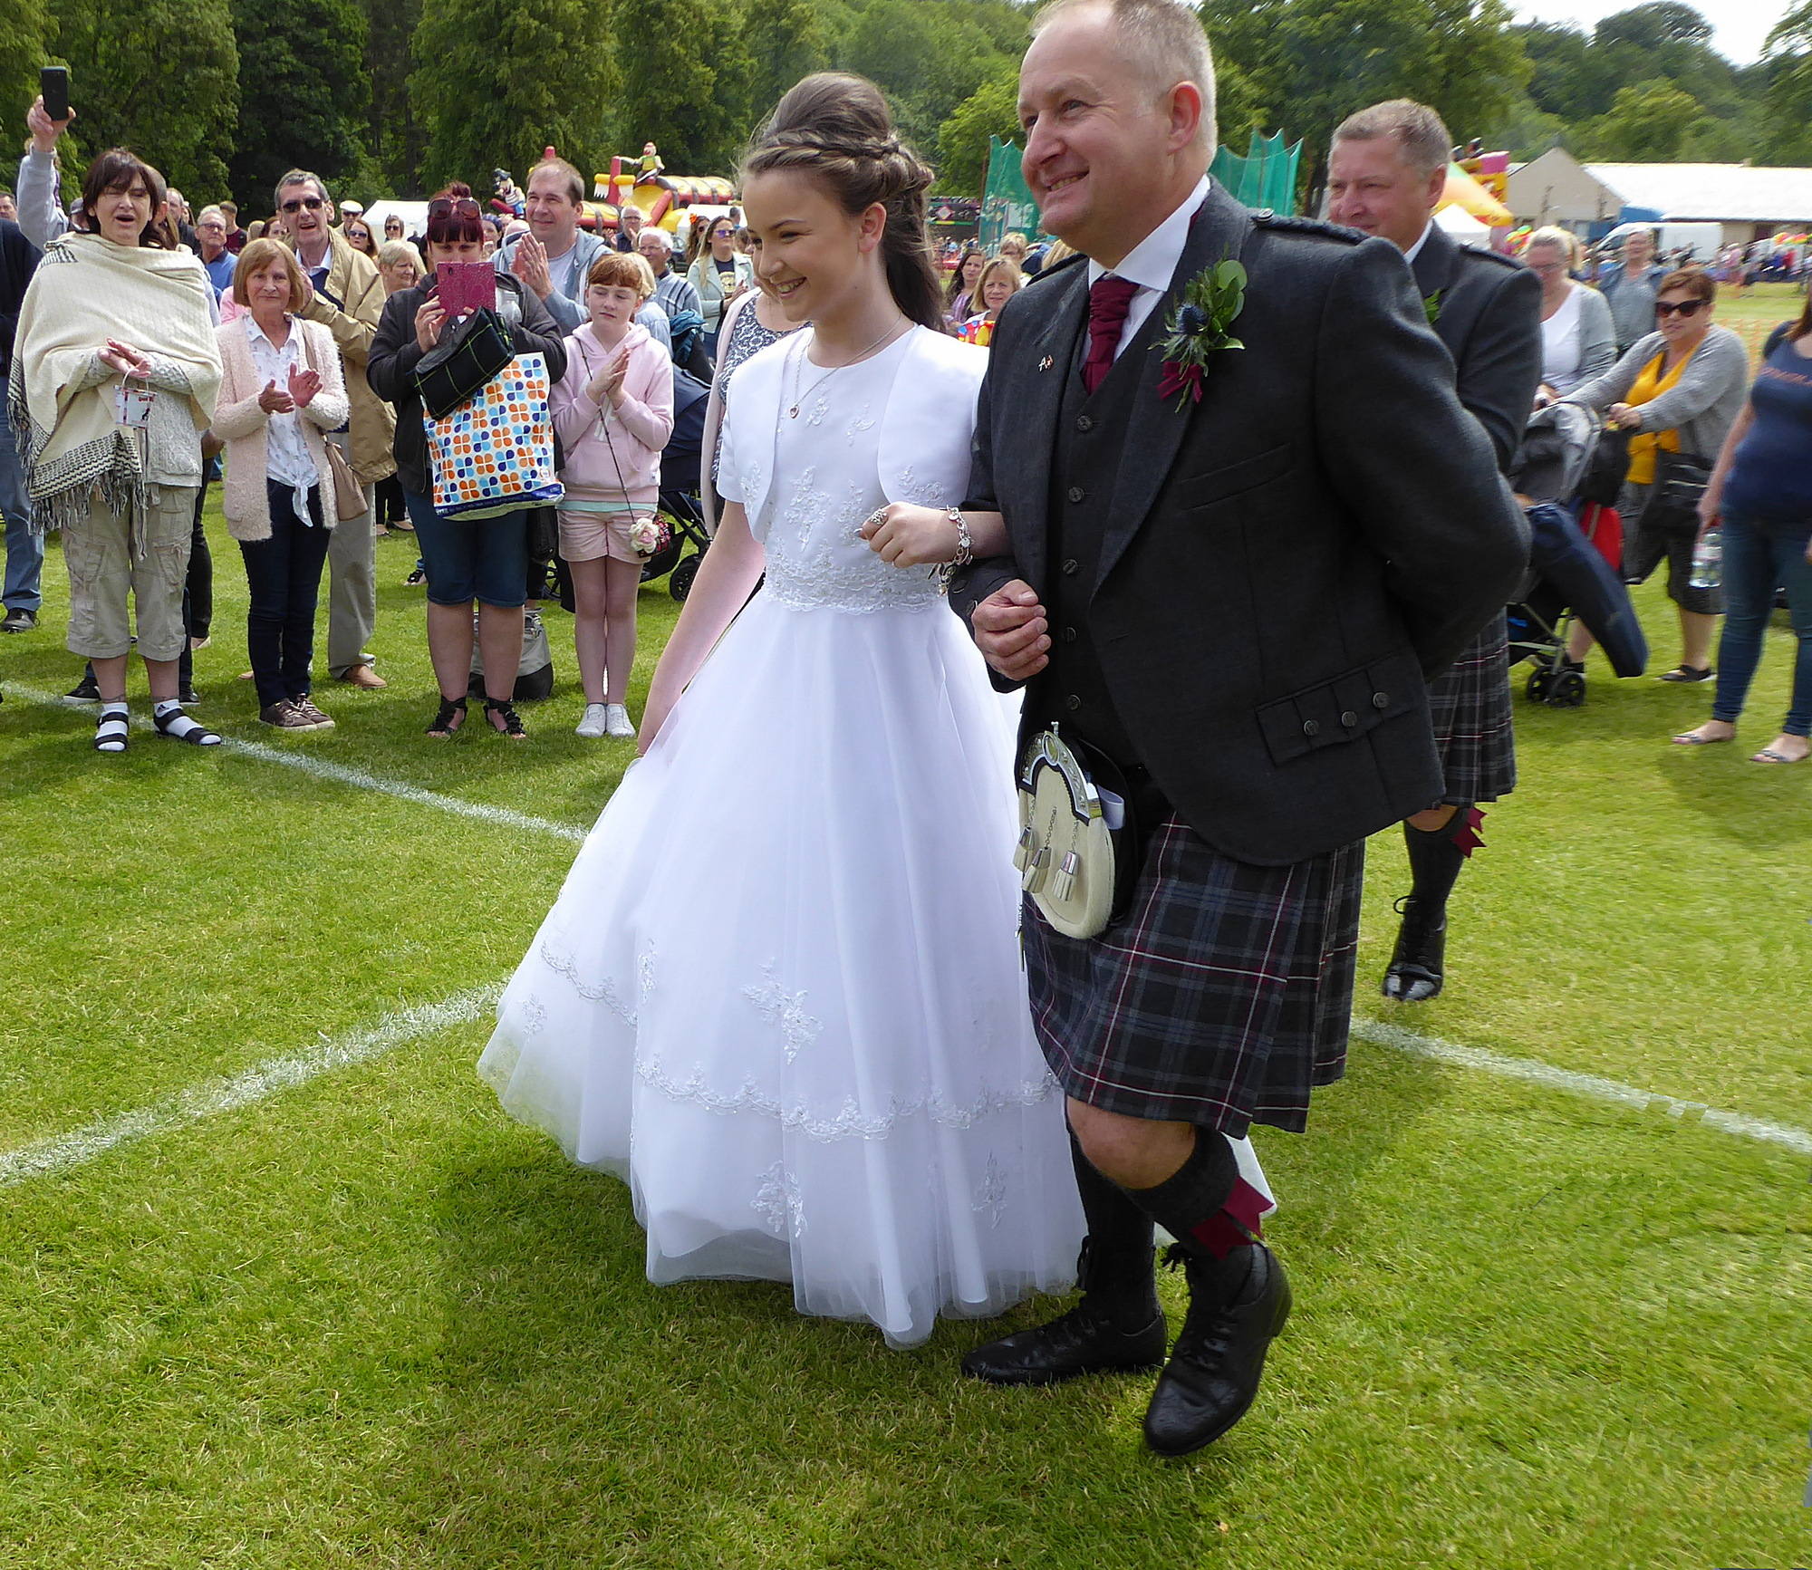
[[337, 181], [364, 152], [366, 18], [353, 0], [234, 0], [239, 127], [228, 169], [254, 207], [290, 169]]

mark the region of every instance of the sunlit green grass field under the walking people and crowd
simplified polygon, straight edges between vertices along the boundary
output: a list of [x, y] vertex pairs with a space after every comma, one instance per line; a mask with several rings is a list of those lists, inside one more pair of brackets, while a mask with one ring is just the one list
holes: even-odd
[[[571, 624], [527, 745], [435, 745], [388, 540], [390, 689], [274, 738], [212, 535], [203, 712], [266, 752], [103, 760], [89, 712], [33, 702], [76, 674], [54, 546], [43, 625], [0, 640], [0, 1565], [1812, 1563], [1812, 769], [1669, 747], [1703, 689], [1595, 665], [1580, 711], [1518, 702], [1522, 787], [1413, 1012], [1375, 993], [1404, 883], [1373, 847], [1352, 1070], [1306, 1137], [1258, 1133], [1296, 1318], [1250, 1418], [1160, 1463], [1145, 1381], [959, 1381], [997, 1327], [899, 1354], [781, 1289], [649, 1287], [623, 1189], [473, 1075], [482, 990], [631, 756], [571, 734]], [[641, 606], [647, 667], [672, 604]]]

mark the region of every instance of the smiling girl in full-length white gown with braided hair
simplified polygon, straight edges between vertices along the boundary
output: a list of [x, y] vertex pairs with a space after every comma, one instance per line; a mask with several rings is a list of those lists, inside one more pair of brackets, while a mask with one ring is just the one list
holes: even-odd
[[645, 756], [480, 1061], [629, 1184], [649, 1280], [790, 1282], [897, 1347], [1065, 1289], [1082, 1238], [1018, 957], [1013, 736], [928, 566], [959, 549], [986, 364], [935, 330], [928, 181], [859, 78], [799, 83], [757, 140], [757, 267], [814, 328], [737, 372]]

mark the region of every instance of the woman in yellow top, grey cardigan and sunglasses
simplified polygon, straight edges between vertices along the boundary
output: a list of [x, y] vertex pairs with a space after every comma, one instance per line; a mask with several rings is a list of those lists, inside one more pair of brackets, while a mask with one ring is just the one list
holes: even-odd
[[[1709, 682], [1711, 638], [1723, 609], [1718, 589], [1692, 587], [1692, 546], [1698, 511], [1651, 506], [1662, 453], [1696, 457], [1709, 471], [1723, 450], [1725, 433], [1743, 408], [1749, 354], [1743, 341], [1712, 325], [1718, 285], [1700, 268], [1682, 268], [1662, 279], [1654, 299], [1654, 326], [1596, 381], [1575, 388], [1566, 402], [1598, 410], [1634, 431], [1629, 442], [1629, 479], [1618, 508], [1624, 515], [1624, 577], [1647, 580], [1667, 562], [1667, 596], [1680, 607], [1680, 664], [1663, 682]], [[1654, 499], [1658, 500], [1658, 499]], [[1567, 656], [1586, 658], [1591, 635], [1575, 627]]]

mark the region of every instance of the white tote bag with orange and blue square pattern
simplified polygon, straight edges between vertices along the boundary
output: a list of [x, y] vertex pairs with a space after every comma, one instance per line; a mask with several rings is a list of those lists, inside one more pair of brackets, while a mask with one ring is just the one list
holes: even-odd
[[554, 471], [547, 355], [518, 354], [477, 397], [440, 419], [424, 413], [435, 511], [486, 518], [565, 497]]

